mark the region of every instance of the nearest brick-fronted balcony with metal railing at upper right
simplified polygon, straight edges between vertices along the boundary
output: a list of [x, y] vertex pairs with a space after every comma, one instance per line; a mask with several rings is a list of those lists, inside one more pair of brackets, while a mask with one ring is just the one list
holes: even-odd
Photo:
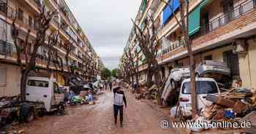
[[[244, 28], [248, 27], [247, 25], [253, 25], [255, 23], [255, 3], [255, 0], [246, 0], [233, 9], [230, 9], [230, 12], [223, 13], [217, 19], [212, 20], [207, 25], [203, 25], [200, 28], [200, 32], [192, 39], [193, 47], [200, 46], [200, 44], [210, 45], [214, 39], [215, 42], [229, 41], [228, 39], [231, 38], [226, 35], [232, 34], [234, 37], [249, 33]], [[238, 29], [240, 32], [236, 32]]]

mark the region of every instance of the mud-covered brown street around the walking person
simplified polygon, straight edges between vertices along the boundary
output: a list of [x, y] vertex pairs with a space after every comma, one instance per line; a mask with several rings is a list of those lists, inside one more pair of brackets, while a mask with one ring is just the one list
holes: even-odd
[[124, 109], [124, 127], [114, 124], [113, 93], [99, 95], [96, 105], [68, 107], [64, 116], [45, 116], [21, 127], [29, 134], [80, 134], [80, 133], [178, 133], [162, 129], [161, 115], [145, 102], [137, 101], [127, 92], [127, 109]]

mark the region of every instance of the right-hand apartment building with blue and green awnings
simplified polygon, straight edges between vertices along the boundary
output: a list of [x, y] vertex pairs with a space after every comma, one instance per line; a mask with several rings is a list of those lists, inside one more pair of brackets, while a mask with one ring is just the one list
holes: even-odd
[[[148, 15], [154, 17], [157, 36], [157, 60], [162, 77], [167, 77], [174, 66], [188, 66], [187, 48], [181, 28], [173, 17], [179, 19], [179, 1], [170, 0], [173, 11], [161, 0], [143, 0], [135, 23], [146, 31], [151, 27]], [[189, 2], [189, 38], [195, 63], [203, 60], [220, 60], [227, 63], [234, 80], [242, 87], [256, 87], [256, 1], [255, 0], [191, 0]], [[140, 52], [135, 31], [129, 35], [126, 48]], [[126, 49], [125, 49], [126, 50]], [[143, 54], [138, 58], [140, 79], [146, 79], [147, 65]], [[136, 59], [135, 59], [136, 60]]]

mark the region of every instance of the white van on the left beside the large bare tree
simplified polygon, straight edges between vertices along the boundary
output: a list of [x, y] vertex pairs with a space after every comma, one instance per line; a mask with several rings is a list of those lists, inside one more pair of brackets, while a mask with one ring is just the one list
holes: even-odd
[[46, 111], [64, 109], [64, 94], [55, 79], [29, 76], [26, 84], [26, 101], [45, 103]]

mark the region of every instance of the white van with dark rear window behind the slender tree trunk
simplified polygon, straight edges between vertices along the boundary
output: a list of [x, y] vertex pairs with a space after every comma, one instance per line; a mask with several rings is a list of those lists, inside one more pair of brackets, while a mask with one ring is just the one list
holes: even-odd
[[[212, 103], [206, 101], [206, 95], [218, 94], [219, 87], [217, 82], [212, 78], [196, 78], [196, 92], [197, 92], [197, 109], [209, 106]], [[183, 117], [192, 116], [192, 98], [190, 90], [190, 79], [184, 79], [181, 84], [179, 95], [179, 110]]]

